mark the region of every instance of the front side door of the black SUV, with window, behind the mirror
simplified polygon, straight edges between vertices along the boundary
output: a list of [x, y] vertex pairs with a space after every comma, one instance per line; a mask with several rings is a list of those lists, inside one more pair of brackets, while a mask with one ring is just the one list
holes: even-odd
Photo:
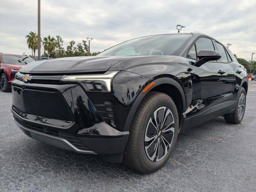
[[[200, 50], [216, 50], [212, 39], [201, 37], [196, 41], [188, 53], [188, 58], [191, 57], [192, 63], [192, 57]], [[192, 78], [193, 116], [191, 126], [195, 126], [212, 119], [212, 115], [217, 115], [218, 105], [223, 102], [225, 71], [218, 61], [206, 62], [199, 67], [192, 66], [192, 68], [195, 76]], [[198, 94], [198, 90], [200, 94]], [[198, 118], [199, 114], [200, 118]]]

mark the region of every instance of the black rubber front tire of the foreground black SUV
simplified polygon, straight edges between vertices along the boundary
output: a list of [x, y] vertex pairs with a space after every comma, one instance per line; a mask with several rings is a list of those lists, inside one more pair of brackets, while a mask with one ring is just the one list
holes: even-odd
[[[161, 115], [159, 114], [160, 112], [158, 112], [160, 111], [159, 109], [162, 110]], [[154, 160], [150, 160], [149, 154], [148, 152], [146, 152], [146, 147], [149, 148], [149, 146], [146, 146], [145, 135], [146, 130], [149, 130], [148, 127], [150, 124], [150, 119], [152, 120], [154, 112], [158, 114], [157, 119], [160, 119], [161, 116], [162, 119], [166, 118], [166, 121], [162, 120], [162, 122], [164, 122], [164, 125], [161, 125], [162, 132], [161, 128], [159, 128], [159, 132], [152, 136], [152, 138], [157, 137], [158, 140], [156, 141], [157, 143], [154, 143], [154, 141], [152, 142], [155, 146], [154, 148], [158, 148], [158, 155], [155, 158], [156, 160], [158, 160], [158, 156], [161, 157], [161, 152], [159, 155], [159, 151], [162, 151], [162, 158], [160, 158], [156, 162], [154, 162]], [[172, 116], [170, 116], [170, 114], [172, 114]], [[170, 119], [173, 119], [174, 123], [172, 123], [173, 121]], [[167, 120], [169, 122], [167, 122]], [[172, 122], [170, 123], [170, 121]], [[165, 124], [170, 124], [171, 126], [166, 126]], [[123, 162], [126, 164], [126, 166], [142, 173], [151, 173], [160, 169], [170, 158], [172, 150], [176, 144], [178, 125], [178, 111], [172, 98], [170, 98], [170, 96], [168, 96], [167, 94], [161, 92], [149, 92], [142, 100], [132, 120], [130, 135], [124, 152]], [[153, 124], [151, 126], [153, 126]], [[157, 128], [158, 126], [160, 126], [159, 123], [157, 125]], [[156, 126], [154, 127], [156, 128]], [[172, 129], [174, 133], [172, 131], [166, 132], [169, 129]], [[157, 130], [154, 130], [154, 132], [157, 132]], [[168, 142], [167, 140], [166, 142], [164, 142], [164, 138], [161, 137], [168, 137], [168, 139], [172, 137], [172, 140], [169, 140], [170, 142]], [[166, 147], [166, 144], [169, 144], [167, 145], [168, 147]], [[166, 148], [164, 148], [164, 146]], [[167, 149], [167, 151], [164, 149]], [[165, 153], [163, 154], [164, 151]]]

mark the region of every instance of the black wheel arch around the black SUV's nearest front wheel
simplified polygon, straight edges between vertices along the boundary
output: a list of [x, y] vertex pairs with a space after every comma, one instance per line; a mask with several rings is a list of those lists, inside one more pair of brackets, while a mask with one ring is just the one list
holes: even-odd
[[[155, 83], [154, 86], [150, 87], [145, 93], [140, 92], [140, 94], [137, 96], [136, 100], [134, 101], [130, 109], [130, 112], [128, 114], [128, 117], [126, 119], [126, 122], [124, 125], [124, 131], [130, 130], [130, 126], [132, 124], [132, 120], [137, 108], [139, 107], [141, 101], [145, 98], [146, 94], [148, 94], [148, 92], [150, 91], [158, 91], [158, 92], [163, 92], [165, 94], [168, 94], [176, 104], [176, 107], [179, 113], [179, 120], [182, 116], [182, 112], [186, 110], [186, 98], [185, 98], [184, 90], [176, 80], [174, 80], [173, 78], [163, 77], [163, 78], [158, 78], [156, 80], [153, 80], [151, 82]], [[166, 88], [169, 88], [169, 89], [166, 89]]]

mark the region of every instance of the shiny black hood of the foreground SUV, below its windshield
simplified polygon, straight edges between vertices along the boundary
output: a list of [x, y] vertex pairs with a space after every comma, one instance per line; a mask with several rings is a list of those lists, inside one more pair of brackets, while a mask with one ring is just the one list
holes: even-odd
[[31, 74], [66, 74], [104, 72], [114, 64], [131, 56], [86, 56], [35, 61], [27, 64], [21, 72]]

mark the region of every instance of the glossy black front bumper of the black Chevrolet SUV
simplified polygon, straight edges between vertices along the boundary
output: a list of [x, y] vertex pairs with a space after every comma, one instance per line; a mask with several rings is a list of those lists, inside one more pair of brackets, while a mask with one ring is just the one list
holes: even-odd
[[129, 132], [115, 128], [110, 94], [87, 94], [78, 84], [14, 80], [12, 97], [15, 123], [35, 140], [78, 153], [124, 152]]

